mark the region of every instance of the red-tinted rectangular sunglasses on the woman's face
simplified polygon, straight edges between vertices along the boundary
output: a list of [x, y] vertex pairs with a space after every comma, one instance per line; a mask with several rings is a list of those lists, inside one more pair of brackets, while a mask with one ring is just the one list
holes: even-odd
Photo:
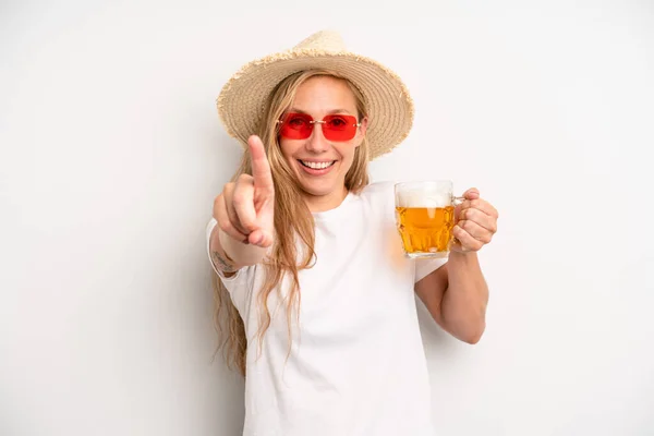
[[279, 133], [287, 140], [306, 140], [313, 132], [314, 124], [323, 124], [323, 134], [328, 141], [350, 141], [356, 135], [361, 125], [354, 116], [332, 114], [315, 121], [307, 113], [287, 113], [281, 121]]

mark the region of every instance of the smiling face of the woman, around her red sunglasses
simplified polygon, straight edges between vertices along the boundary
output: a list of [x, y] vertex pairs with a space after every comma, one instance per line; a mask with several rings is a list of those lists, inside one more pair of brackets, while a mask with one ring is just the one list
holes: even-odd
[[[358, 118], [354, 94], [343, 80], [330, 76], [314, 76], [300, 85], [287, 113], [306, 114], [315, 121], [332, 114]], [[336, 118], [332, 125], [342, 125], [343, 119]], [[302, 119], [294, 122], [302, 123]], [[311, 125], [313, 131], [306, 138], [289, 138], [282, 129], [281, 154], [300, 182], [310, 209], [328, 210], [337, 207], [347, 194], [346, 174], [352, 166], [354, 150], [363, 142], [367, 120], [361, 121], [348, 141], [326, 138], [323, 132], [326, 124]]]

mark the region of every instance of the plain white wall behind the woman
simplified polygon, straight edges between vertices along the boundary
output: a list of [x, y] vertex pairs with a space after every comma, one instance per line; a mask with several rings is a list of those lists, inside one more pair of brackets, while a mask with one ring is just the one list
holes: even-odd
[[239, 434], [211, 360], [204, 230], [240, 157], [215, 98], [325, 27], [415, 99], [373, 178], [500, 211], [482, 342], [421, 307], [438, 434], [654, 435], [645, 0], [2, 0], [0, 434]]

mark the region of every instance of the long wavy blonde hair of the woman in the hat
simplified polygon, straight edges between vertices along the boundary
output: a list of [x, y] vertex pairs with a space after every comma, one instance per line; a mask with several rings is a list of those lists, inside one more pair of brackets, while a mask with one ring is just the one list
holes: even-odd
[[[275, 233], [276, 240], [271, 249], [271, 255], [264, 263], [266, 279], [257, 294], [257, 307], [259, 308], [259, 328], [257, 339], [259, 349], [264, 334], [270, 326], [271, 317], [267, 301], [269, 294], [278, 288], [284, 276], [289, 276], [291, 289], [286, 298], [287, 322], [289, 337], [291, 336], [291, 317], [293, 312], [299, 313], [300, 283], [298, 274], [302, 269], [310, 268], [315, 261], [315, 233], [314, 220], [308, 207], [303, 201], [302, 189], [298, 183], [291, 168], [281, 154], [279, 146], [279, 128], [277, 120], [292, 105], [295, 93], [300, 85], [306, 80], [315, 76], [332, 76], [344, 80], [339, 74], [327, 70], [310, 70], [295, 73], [282, 82], [270, 94], [266, 102], [264, 117], [258, 126], [258, 135], [264, 143], [266, 155], [270, 162], [272, 180], [275, 184]], [[344, 80], [354, 94], [359, 120], [366, 114], [365, 99], [361, 92], [349, 81]], [[346, 189], [349, 192], [359, 193], [368, 184], [368, 144], [364, 136], [362, 144], [354, 152], [352, 167], [346, 174]], [[250, 154], [244, 153], [241, 165], [232, 180], [235, 181], [241, 174], [252, 174]], [[298, 246], [298, 241], [300, 246]], [[302, 254], [298, 262], [299, 253]], [[228, 366], [237, 367], [245, 376], [245, 361], [247, 352], [247, 337], [245, 327], [230, 295], [216, 274], [213, 275], [215, 296], [215, 322], [221, 338], [220, 347], [225, 347], [225, 358]], [[225, 319], [221, 318], [225, 313]], [[225, 323], [225, 326], [221, 325]], [[227, 330], [227, 331], [226, 331]], [[290, 348], [289, 348], [290, 352]]]

